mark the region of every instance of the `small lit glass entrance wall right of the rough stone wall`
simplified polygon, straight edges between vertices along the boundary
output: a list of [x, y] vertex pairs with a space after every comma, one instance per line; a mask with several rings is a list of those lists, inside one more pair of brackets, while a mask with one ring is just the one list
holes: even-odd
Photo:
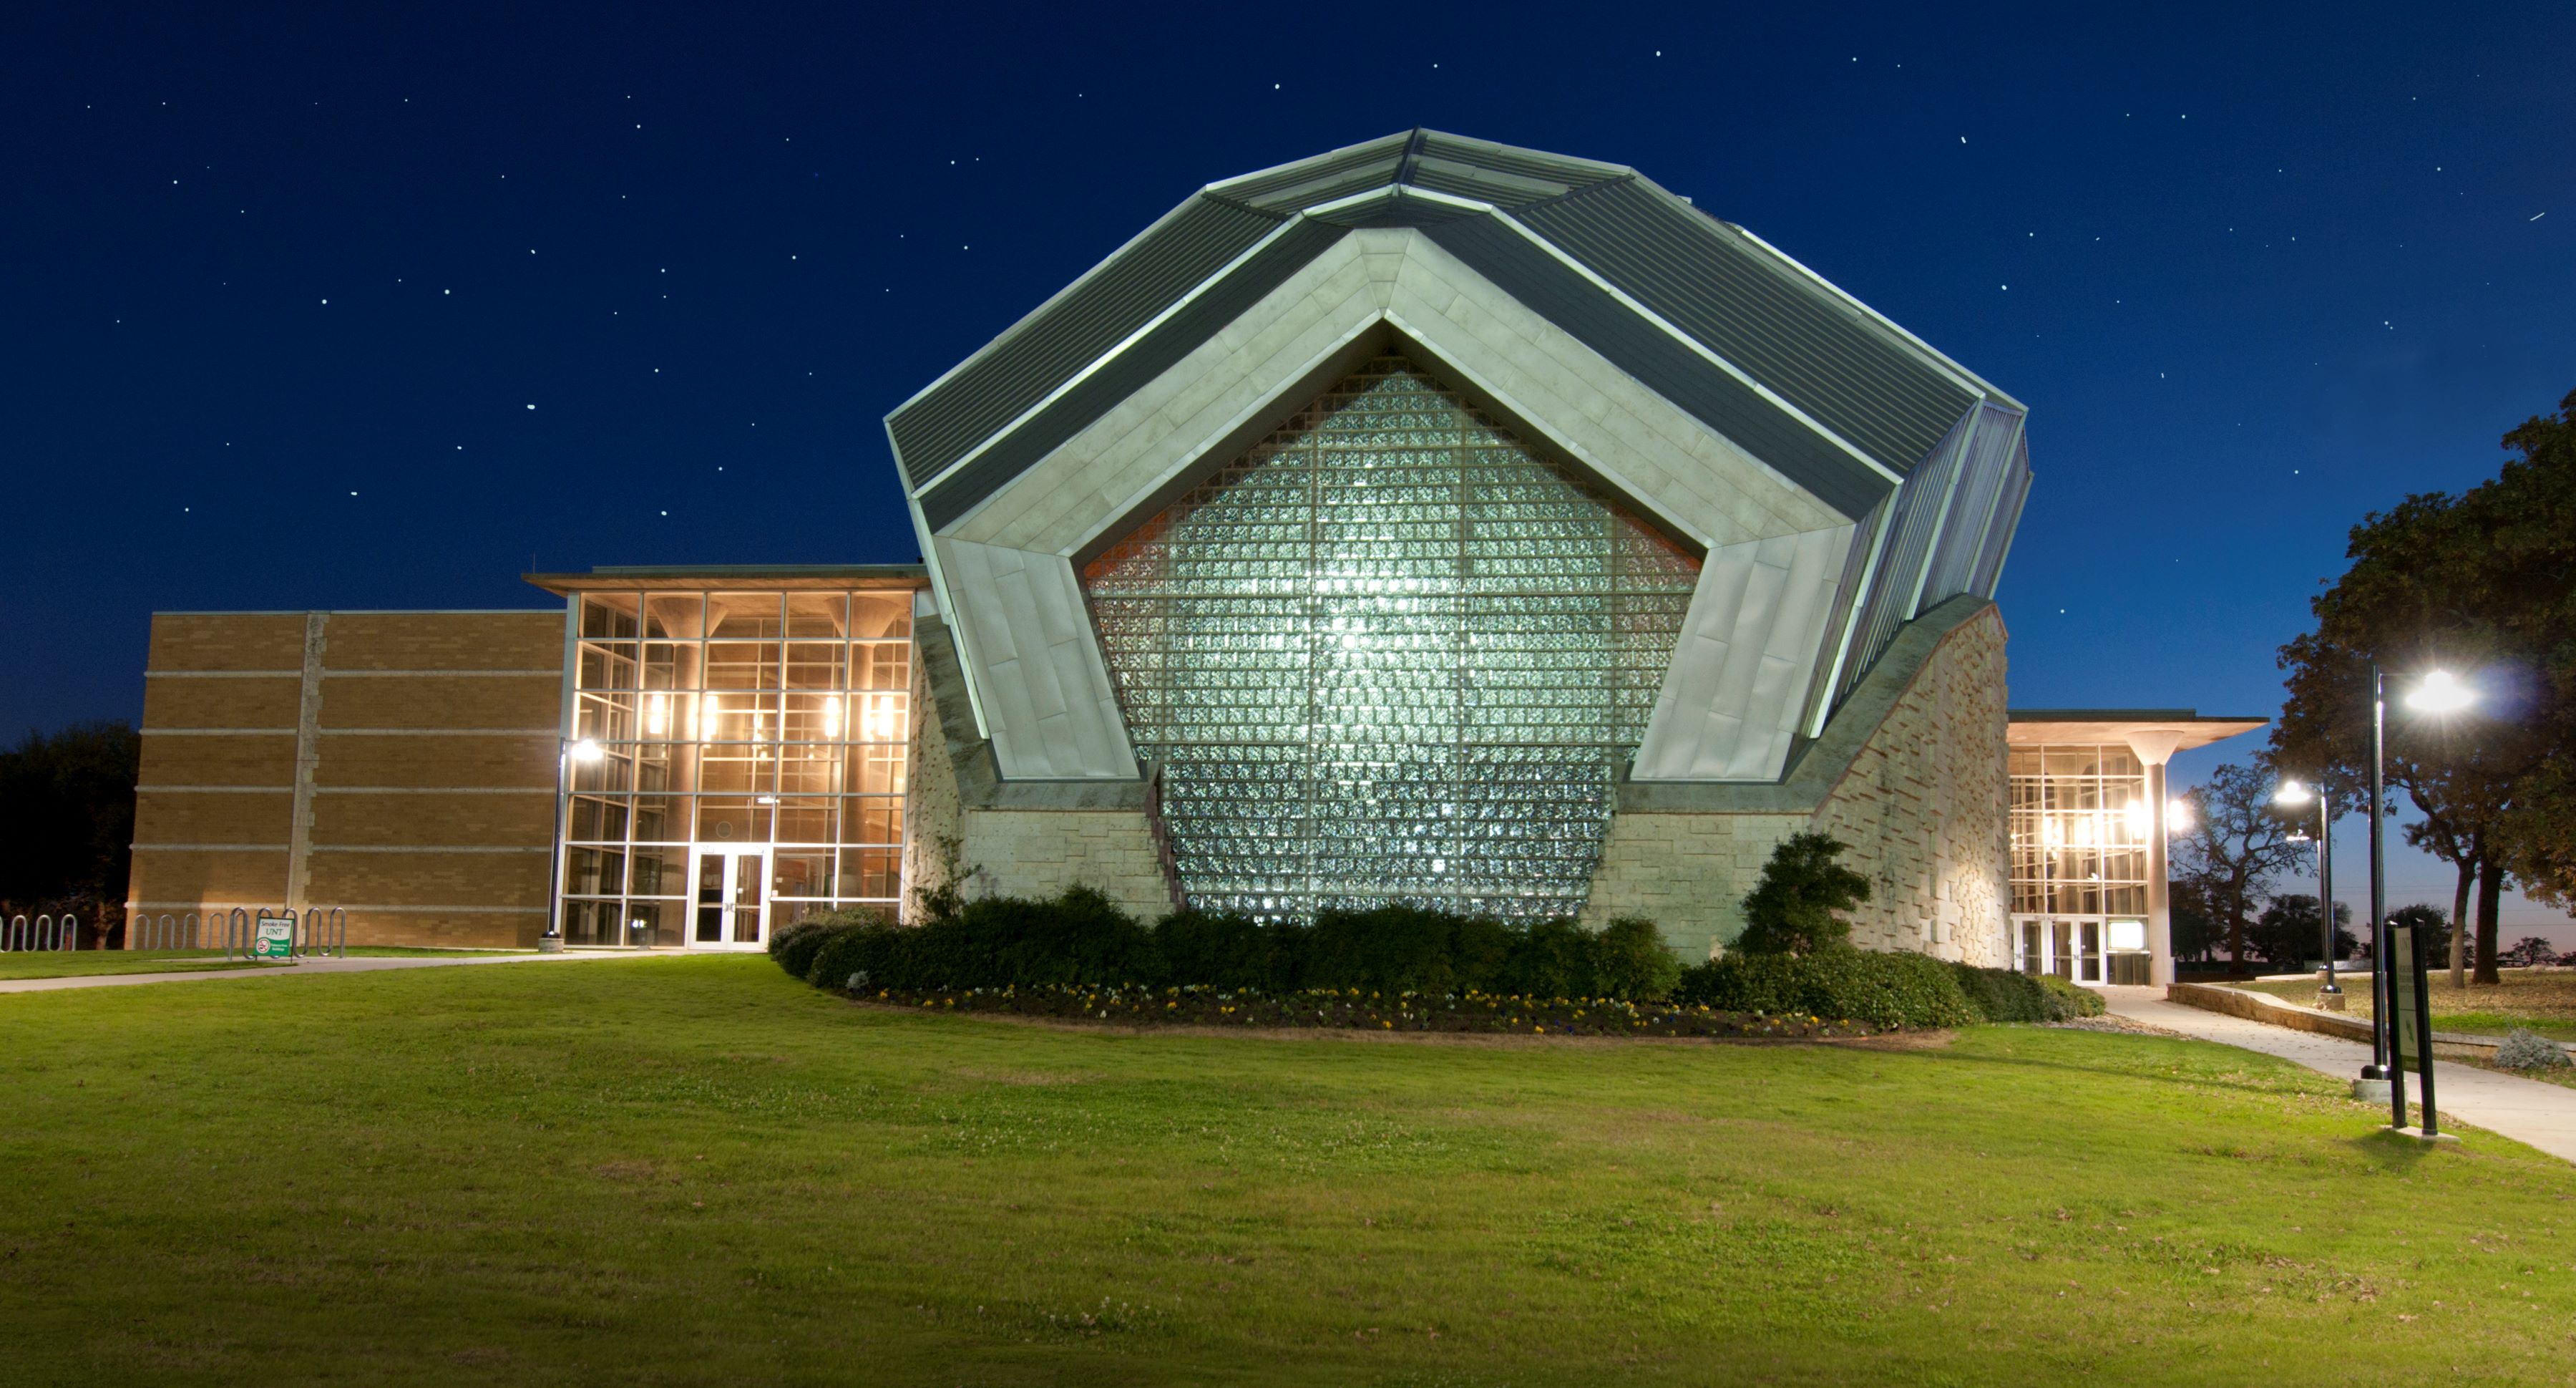
[[2014, 747], [2012, 937], [2022, 973], [2146, 981], [2146, 765], [2120, 744]]

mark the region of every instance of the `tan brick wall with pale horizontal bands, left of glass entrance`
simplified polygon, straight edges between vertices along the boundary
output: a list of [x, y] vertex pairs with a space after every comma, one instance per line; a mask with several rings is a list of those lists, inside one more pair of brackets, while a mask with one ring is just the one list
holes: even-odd
[[129, 909], [536, 943], [562, 662], [551, 610], [155, 615]]

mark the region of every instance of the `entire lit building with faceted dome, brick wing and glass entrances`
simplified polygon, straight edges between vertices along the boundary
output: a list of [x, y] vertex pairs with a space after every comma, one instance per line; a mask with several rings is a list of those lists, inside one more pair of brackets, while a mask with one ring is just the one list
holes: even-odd
[[886, 417], [914, 564], [160, 613], [129, 912], [757, 948], [1095, 886], [2169, 976], [2164, 762], [2009, 713], [2025, 407], [1646, 175], [1435, 131], [1211, 183]]

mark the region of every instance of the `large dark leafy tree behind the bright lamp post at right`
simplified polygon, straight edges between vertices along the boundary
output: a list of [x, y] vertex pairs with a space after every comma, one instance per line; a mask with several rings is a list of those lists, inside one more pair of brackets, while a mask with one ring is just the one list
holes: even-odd
[[[2316, 631], [2280, 649], [2290, 700], [2272, 729], [2275, 760], [2352, 796], [2370, 773], [2370, 662], [2401, 675], [2388, 785], [2424, 816], [2409, 837], [2458, 868], [2463, 935], [2476, 881], [2481, 984], [2506, 878], [2543, 901], [2576, 894], [2576, 394], [2504, 445], [2519, 458], [2496, 479], [2352, 528]], [[2406, 716], [2403, 675], [2432, 667], [2478, 682], [2476, 713]]]

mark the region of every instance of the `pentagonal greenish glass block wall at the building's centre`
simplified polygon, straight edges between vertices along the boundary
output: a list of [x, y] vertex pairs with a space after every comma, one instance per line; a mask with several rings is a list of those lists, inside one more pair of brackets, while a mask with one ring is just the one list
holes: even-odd
[[1193, 906], [1574, 914], [1700, 564], [1381, 358], [1084, 569]]

